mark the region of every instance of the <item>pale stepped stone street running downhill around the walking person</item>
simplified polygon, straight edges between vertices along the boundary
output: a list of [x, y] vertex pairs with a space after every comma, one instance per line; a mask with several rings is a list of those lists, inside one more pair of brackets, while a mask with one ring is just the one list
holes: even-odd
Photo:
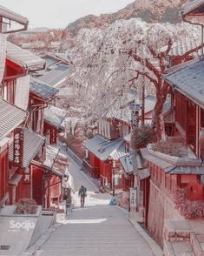
[[[126, 212], [109, 205], [109, 194], [95, 193], [98, 189], [79, 166], [70, 160], [69, 173], [75, 185], [76, 206], [69, 219], [59, 214], [63, 222], [40, 248], [43, 256], [140, 256], [153, 255], [151, 249], [128, 222]], [[88, 189], [85, 208], [79, 207], [77, 190]]]

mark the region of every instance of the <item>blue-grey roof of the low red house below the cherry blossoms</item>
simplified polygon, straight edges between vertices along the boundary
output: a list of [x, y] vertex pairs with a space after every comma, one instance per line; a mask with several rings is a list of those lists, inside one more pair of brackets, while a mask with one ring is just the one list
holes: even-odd
[[102, 138], [96, 135], [83, 143], [83, 146], [95, 154], [96, 158], [102, 161], [107, 160], [109, 157], [113, 159], [119, 159], [126, 154], [124, 148], [124, 142], [122, 139], [115, 139], [109, 141], [108, 139]]

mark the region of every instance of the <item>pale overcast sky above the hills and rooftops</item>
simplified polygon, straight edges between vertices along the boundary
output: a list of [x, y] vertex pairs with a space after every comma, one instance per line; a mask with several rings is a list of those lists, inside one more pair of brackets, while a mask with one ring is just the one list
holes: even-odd
[[0, 0], [0, 4], [27, 17], [30, 28], [64, 28], [88, 14], [115, 12], [134, 0]]

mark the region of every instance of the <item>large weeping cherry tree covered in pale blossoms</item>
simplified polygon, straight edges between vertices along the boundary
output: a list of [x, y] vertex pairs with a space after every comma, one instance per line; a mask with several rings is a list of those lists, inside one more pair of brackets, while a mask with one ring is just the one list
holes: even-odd
[[102, 29], [81, 30], [69, 55], [72, 67], [68, 84], [74, 84], [81, 114], [87, 122], [100, 118], [129, 87], [141, 88], [146, 77], [154, 88], [155, 127], [161, 139], [161, 113], [168, 96], [163, 74], [174, 45], [194, 40], [181, 62], [198, 51], [200, 30], [189, 24], [147, 24], [140, 19], [120, 20]]

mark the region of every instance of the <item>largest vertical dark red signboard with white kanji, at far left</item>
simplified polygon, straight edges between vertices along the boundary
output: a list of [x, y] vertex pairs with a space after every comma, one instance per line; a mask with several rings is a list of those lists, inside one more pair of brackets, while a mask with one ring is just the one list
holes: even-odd
[[23, 129], [22, 128], [16, 128], [14, 130], [13, 163], [18, 167], [23, 166]]

